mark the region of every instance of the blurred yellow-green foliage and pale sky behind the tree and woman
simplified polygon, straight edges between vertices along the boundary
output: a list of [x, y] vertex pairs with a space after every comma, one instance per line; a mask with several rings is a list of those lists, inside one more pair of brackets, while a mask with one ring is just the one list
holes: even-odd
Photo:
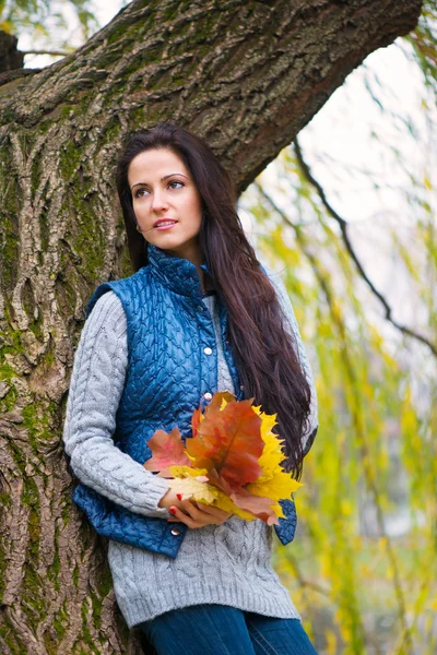
[[[0, 28], [42, 68], [126, 4], [0, 2]], [[321, 655], [437, 653], [436, 44], [433, 0], [239, 199], [318, 389], [298, 528], [274, 564]]]

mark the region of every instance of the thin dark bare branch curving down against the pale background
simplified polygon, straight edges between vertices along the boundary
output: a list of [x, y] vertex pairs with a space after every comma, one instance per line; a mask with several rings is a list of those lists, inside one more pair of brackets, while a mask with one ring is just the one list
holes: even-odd
[[385, 310], [386, 310], [386, 319], [392, 324], [394, 325], [394, 327], [397, 327], [398, 330], [400, 330], [403, 334], [411, 336], [417, 341], [420, 341], [421, 343], [425, 344], [426, 346], [428, 346], [428, 348], [430, 349], [430, 352], [433, 353], [433, 355], [435, 357], [437, 357], [437, 346], [434, 345], [429, 340], [426, 338], [426, 336], [423, 336], [422, 334], [418, 334], [417, 332], [415, 332], [414, 330], [411, 330], [410, 327], [408, 327], [406, 325], [402, 325], [401, 323], [399, 323], [398, 321], [395, 321], [392, 317], [392, 310], [391, 307], [389, 306], [388, 301], [386, 300], [386, 298], [382, 296], [382, 294], [380, 291], [378, 291], [378, 289], [375, 287], [375, 285], [373, 284], [373, 282], [369, 279], [368, 275], [366, 274], [362, 263], [358, 260], [357, 254], [355, 253], [355, 250], [351, 243], [351, 240], [349, 238], [349, 234], [347, 234], [347, 223], [344, 218], [342, 218], [338, 212], [332, 207], [332, 205], [330, 204], [330, 202], [327, 199], [327, 195], [324, 193], [323, 188], [321, 187], [320, 182], [318, 182], [316, 180], [316, 178], [312, 176], [310, 168], [308, 166], [308, 164], [305, 162], [304, 159], [304, 155], [302, 153], [302, 148], [300, 145], [298, 143], [297, 138], [295, 138], [294, 142], [294, 148], [296, 152], [296, 156], [297, 156], [297, 160], [299, 163], [300, 169], [303, 171], [303, 174], [305, 175], [306, 179], [308, 180], [308, 182], [316, 189], [324, 209], [327, 210], [328, 214], [334, 218], [338, 224], [340, 225], [340, 229], [341, 229], [341, 234], [342, 234], [342, 238], [344, 241], [344, 245], [346, 247], [346, 250], [351, 257], [351, 259], [353, 260], [353, 262], [355, 263], [355, 266], [358, 271], [358, 274], [361, 275], [361, 277], [364, 279], [364, 282], [367, 284], [367, 286], [370, 288], [371, 293], [378, 298], [378, 300], [382, 303]]

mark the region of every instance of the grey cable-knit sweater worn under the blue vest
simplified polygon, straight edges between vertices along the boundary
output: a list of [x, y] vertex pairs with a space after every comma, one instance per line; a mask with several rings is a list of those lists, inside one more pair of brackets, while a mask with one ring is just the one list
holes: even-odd
[[[314, 380], [285, 288], [276, 287], [300, 358]], [[220, 338], [215, 295], [204, 297], [216, 333], [218, 391], [234, 393]], [[218, 336], [218, 338], [217, 338]], [[122, 453], [113, 441], [128, 361], [127, 322], [116, 294], [94, 306], [75, 353], [63, 427], [66, 452], [75, 476], [120, 505], [145, 516], [172, 517], [158, 508], [167, 483]], [[310, 429], [318, 425], [314, 390]], [[304, 438], [305, 442], [305, 438]], [[273, 527], [231, 516], [222, 525], [188, 529], [176, 559], [109, 539], [108, 562], [117, 603], [129, 628], [165, 611], [214, 603], [280, 618], [298, 618], [287, 590], [271, 565]]]

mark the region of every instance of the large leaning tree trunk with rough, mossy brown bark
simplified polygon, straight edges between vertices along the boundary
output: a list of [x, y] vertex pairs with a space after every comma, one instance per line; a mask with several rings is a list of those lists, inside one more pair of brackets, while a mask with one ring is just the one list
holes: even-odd
[[0, 651], [141, 653], [106, 544], [70, 496], [61, 427], [84, 306], [131, 273], [114, 200], [127, 131], [206, 138], [238, 191], [420, 0], [137, 0], [84, 47], [0, 85]]

